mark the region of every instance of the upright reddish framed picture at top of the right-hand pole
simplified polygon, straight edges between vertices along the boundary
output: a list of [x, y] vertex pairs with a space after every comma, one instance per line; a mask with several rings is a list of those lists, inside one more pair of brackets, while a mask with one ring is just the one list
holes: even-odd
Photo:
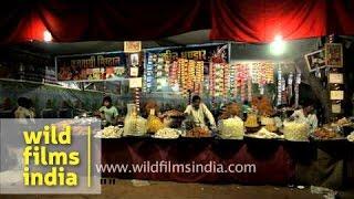
[[343, 67], [343, 46], [341, 43], [326, 43], [325, 64], [331, 67]]

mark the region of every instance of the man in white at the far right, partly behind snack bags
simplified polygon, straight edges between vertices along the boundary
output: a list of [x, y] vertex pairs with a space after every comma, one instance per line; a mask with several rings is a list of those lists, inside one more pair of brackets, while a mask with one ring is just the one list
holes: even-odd
[[319, 119], [314, 112], [313, 104], [309, 103], [303, 108], [296, 109], [291, 117], [300, 122], [306, 122], [310, 129], [314, 130], [319, 126]]

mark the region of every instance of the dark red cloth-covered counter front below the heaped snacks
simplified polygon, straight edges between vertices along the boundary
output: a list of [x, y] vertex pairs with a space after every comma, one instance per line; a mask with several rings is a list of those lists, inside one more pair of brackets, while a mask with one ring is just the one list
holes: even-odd
[[[354, 145], [335, 142], [287, 142], [246, 138], [243, 140], [215, 138], [156, 139], [122, 137], [102, 139], [102, 163], [127, 165], [131, 171], [103, 172], [105, 178], [168, 180], [179, 182], [212, 182], [244, 185], [316, 185], [344, 188], [353, 180]], [[156, 172], [149, 165], [165, 160], [165, 170]], [[228, 172], [175, 172], [166, 164], [221, 164]], [[145, 171], [134, 172], [132, 164], [146, 165]], [[254, 170], [247, 165], [254, 164]], [[143, 166], [142, 166], [143, 167]], [[156, 169], [157, 166], [155, 166]], [[220, 167], [216, 165], [216, 167]], [[232, 166], [233, 167], [233, 166]], [[243, 167], [244, 172], [241, 171]], [[171, 168], [171, 167], [169, 167]], [[163, 168], [164, 169], [164, 168]], [[247, 170], [249, 169], [249, 170]], [[187, 169], [186, 169], [187, 170]], [[353, 184], [352, 184], [353, 185]]]

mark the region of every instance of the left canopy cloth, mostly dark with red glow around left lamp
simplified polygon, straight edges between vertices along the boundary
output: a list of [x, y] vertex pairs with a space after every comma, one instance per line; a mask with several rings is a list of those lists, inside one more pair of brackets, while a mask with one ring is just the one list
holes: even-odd
[[[55, 42], [90, 40], [155, 40], [209, 29], [205, 0], [31, 1], [0, 9], [1, 43], [43, 41], [43, 31]], [[18, 11], [20, 9], [20, 11]], [[17, 11], [11, 19], [7, 15]], [[34, 15], [33, 15], [34, 14]], [[39, 27], [38, 22], [42, 25]], [[44, 25], [44, 30], [43, 30]], [[35, 34], [32, 34], [35, 33]]]

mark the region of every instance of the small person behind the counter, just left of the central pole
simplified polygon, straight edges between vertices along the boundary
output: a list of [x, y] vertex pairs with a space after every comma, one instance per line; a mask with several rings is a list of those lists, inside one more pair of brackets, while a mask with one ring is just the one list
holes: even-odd
[[103, 98], [103, 106], [98, 111], [101, 118], [106, 121], [106, 126], [117, 124], [118, 111], [113, 106], [112, 98], [110, 96], [105, 96]]

